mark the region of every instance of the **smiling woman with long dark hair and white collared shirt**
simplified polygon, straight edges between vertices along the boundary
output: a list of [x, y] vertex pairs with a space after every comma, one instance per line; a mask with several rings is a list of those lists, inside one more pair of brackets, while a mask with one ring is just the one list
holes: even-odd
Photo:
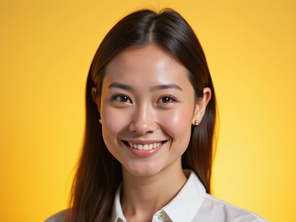
[[266, 221], [210, 195], [215, 119], [188, 23], [171, 9], [126, 16], [91, 63], [70, 210], [47, 221]]

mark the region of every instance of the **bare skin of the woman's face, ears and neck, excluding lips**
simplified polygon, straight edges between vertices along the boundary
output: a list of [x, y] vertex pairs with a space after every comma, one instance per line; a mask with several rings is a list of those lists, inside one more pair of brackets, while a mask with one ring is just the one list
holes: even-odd
[[[123, 50], [107, 65], [101, 98], [92, 89], [104, 142], [122, 165], [121, 205], [128, 222], [152, 221], [186, 183], [181, 155], [191, 125], [201, 122], [210, 100], [210, 89], [203, 91], [203, 99], [195, 100], [186, 68], [157, 46]], [[148, 140], [166, 142], [149, 157], [135, 155], [124, 142]]]

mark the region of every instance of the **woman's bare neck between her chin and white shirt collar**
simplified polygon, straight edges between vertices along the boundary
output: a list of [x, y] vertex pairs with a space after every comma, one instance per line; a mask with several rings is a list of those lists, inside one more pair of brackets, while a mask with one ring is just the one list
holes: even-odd
[[122, 168], [121, 206], [127, 221], [151, 221], [158, 210], [173, 200], [187, 180], [181, 158], [152, 176], [135, 176]]

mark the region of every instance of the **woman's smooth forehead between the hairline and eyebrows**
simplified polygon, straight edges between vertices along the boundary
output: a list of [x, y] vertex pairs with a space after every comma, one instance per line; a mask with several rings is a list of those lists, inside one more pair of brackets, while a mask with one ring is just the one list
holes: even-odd
[[106, 67], [103, 85], [114, 81], [141, 87], [169, 82], [191, 85], [186, 68], [157, 46], [125, 49], [117, 54]]

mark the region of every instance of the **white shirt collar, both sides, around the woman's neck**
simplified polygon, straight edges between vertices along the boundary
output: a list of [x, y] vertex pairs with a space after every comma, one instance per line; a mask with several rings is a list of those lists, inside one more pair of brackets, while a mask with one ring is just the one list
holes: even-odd
[[[196, 174], [192, 170], [184, 170], [184, 173], [188, 178], [185, 185], [177, 196], [161, 209], [172, 222], [192, 221], [205, 198], [205, 187]], [[117, 222], [119, 218], [126, 221], [120, 204], [121, 187], [122, 184], [115, 194], [111, 222]]]

